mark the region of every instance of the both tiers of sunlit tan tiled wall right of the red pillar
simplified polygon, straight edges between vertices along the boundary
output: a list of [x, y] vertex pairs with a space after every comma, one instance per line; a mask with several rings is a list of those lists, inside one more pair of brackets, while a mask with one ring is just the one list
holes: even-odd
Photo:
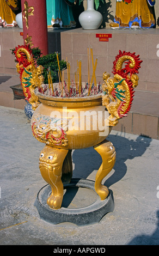
[[[96, 33], [112, 34], [108, 42], [101, 42]], [[88, 47], [93, 47], [94, 62], [98, 57], [96, 81], [102, 83], [103, 72], [111, 76], [113, 61], [119, 50], [136, 52], [143, 60], [139, 69], [139, 84], [134, 101], [126, 118], [119, 120], [113, 130], [158, 139], [158, 96], [159, 96], [159, 29], [98, 29], [87, 31], [82, 28], [61, 33], [62, 59], [71, 65], [71, 78], [75, 80], [77, 60], [82, 60], [82, 81], [88, 81]], [[92, 74], [92, 73], [91, 73]], [[149, 93], [148, 93], [149, 92]]]

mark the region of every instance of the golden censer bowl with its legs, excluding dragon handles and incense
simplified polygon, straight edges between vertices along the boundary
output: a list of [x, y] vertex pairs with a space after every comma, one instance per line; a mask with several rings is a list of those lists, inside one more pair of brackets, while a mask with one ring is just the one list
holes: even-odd
[[[45, 96], [39, 96], [39, 100], [41, 104], [34, 112], [31, 124], [33, 136], [46, 144], [40, 154], [39, 167], [42, 177], [52, 188], [47, 204], [52, 209], [60, 208], [63, 182], [70, 182], [72, 177], [71, 150], [89, 147], [94, 147], [103, 158], [102, 170], [96, 175], [95, 191], [102, 200], [105, 199], [109, 192], [101, 185], [101, 181], [114, 166], [115, 150], [112, 143], [105, 140], [112, 126], [106, 126], [105, 130], [100, 130], [99, 127], [93, 129], [99, 113], [101, 116], [105, 113], [102, 97], [96, 95], [78, 99], [46, 99]], [[55, 114], [58, 116], [54, 117]], [[88, 129], [82, 127], [88, 125], [88, 122]]]

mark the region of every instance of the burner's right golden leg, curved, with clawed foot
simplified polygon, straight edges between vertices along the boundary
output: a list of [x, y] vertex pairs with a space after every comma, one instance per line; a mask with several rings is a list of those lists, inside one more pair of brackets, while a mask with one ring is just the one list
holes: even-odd
[[109, 194], [109, 190], [106, 186], [103, 186], [101, 182], [114, 167], [116, 159], [115, 148], [111, 142], [105, 139], [105, 141], [94, 146], [94, 149], [102, 157], [102, 164], [97, 171], [95, 178], [95, 191], [99, 194], [101, 200], [105, 200]]

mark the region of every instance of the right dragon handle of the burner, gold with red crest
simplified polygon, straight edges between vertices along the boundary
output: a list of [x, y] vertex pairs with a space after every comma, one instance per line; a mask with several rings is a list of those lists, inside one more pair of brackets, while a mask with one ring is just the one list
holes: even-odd
[[[108, 124], [115, 126], [119, 119], [126, 117], [133, 101], [134, 88], [138, 85], [138, 69], [142, 60], [135, 53], [121, 52], [113, 62], [114, 77], [108, 72], [103, 74], [102, 105], [109, 112]], [[124, 66], [125, 64], [125, 66]]]

